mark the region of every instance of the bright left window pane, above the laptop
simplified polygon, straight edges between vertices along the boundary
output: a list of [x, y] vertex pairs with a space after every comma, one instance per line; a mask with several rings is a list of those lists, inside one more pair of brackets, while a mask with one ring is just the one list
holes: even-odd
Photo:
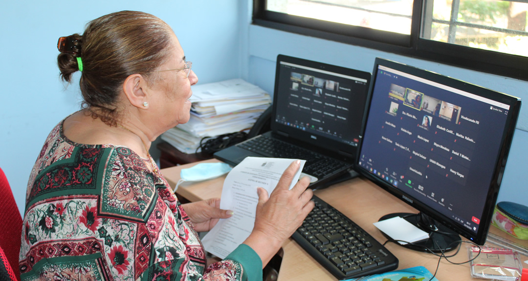
[[272, 12], [411, 34], [412, 0], [268, 0]]

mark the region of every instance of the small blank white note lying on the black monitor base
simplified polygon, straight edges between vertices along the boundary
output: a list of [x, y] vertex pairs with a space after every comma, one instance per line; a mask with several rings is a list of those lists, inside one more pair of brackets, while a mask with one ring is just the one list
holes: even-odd
[[[407, 241], [408, 243], [413, 243], [429, 238], [429, 234], [427, 234], [427, 232], [412, 225], [409, 221], [401, 217], [393, 217], [390, 219], [374, 222], [374, 226], [394, 240], [402, 240]], [[401, 245], [407, 244], [401, 241], [398, 242]]]

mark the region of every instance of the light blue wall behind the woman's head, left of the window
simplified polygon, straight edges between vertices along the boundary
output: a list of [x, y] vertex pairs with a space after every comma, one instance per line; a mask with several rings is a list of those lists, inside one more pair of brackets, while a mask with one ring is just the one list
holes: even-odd
[[79, 75], [71, 85], [59, 79], [59, 37], [82, 33], [90, 20], [125, 9], [154, 14], [171, 25], [201, 83], [240, 76], [238, 0], [2, 1], [0, 167], [21, 212], [44, 140], [79, 109]]

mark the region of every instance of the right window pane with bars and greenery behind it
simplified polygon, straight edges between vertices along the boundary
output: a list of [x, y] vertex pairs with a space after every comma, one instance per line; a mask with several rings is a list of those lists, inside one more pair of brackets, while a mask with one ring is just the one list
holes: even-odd
[[429, 0], [421, 37], [528, 56], [527, 10], [528, 4], [510, 1]]

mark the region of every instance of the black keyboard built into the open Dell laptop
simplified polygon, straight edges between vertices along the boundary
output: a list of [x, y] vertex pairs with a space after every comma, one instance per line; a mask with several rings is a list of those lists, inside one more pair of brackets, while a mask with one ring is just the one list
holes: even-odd
[[293, 144], [260, 135], [258, 138], [237, 144], [238, 147], [258, 152], [262, 156], [273, 158], [294, 158], [306, 160], [303, 172], [308, 175], [324, 178], [333, 173], [350, 167], [349, 163], [323, 156], [320, 153], [294, 146]]

